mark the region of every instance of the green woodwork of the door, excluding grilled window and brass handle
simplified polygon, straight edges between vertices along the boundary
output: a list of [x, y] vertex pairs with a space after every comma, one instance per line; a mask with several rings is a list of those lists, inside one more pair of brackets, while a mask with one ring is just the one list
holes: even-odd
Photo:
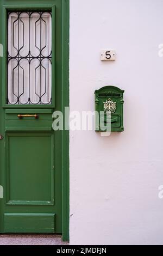
[[[62, 233], [62, 132], [52, 113], [62, 111], [63, 2], [0, 0], [0, 233]], [[8, 10], [52, 10], [52, 105], [7, 105]]]

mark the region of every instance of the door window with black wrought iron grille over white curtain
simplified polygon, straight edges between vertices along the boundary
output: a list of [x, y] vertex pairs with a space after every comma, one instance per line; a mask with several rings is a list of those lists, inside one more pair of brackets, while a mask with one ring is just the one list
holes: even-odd
[[8, 13], [8, 104], [51, 104], [51, 69], [51, 12]]

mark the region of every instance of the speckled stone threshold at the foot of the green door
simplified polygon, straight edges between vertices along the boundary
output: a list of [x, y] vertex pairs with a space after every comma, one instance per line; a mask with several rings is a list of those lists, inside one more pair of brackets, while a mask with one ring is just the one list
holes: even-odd
[[60, 235], [0, 235], [0, 245], [68, 245], [63, 242]]

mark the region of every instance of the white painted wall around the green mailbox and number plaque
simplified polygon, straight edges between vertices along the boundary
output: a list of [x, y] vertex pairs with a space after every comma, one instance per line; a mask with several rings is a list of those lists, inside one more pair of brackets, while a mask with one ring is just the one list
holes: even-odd
[[163, 244], [162, 25], [162, 0], [70, 0], [70, 110], [93, 111], [102, 86], [126, 91], [124, 132], [70, 132], [71, 245]]

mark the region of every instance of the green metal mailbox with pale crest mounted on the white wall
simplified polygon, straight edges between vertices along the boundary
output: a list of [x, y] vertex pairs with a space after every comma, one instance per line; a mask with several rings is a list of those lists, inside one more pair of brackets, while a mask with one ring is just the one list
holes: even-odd
[[95, 91], [96, 131], [124, 131], [123, 93], [124, 90], [115, 86], [105, 86]]

